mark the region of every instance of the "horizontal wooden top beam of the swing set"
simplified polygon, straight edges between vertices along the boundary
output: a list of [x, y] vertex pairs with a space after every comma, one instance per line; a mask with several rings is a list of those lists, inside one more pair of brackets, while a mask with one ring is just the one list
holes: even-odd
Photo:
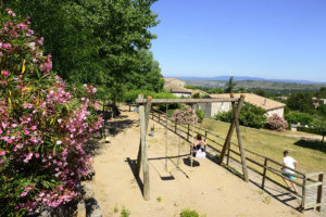
[[[210, 102], [237, 102], [238, 98], [214, 98], [214, 99], [152, 99], [152, 104], [158, 103], [210, 103]], [[147, 99], [137, 99], [137, 104], [147, 103]]]

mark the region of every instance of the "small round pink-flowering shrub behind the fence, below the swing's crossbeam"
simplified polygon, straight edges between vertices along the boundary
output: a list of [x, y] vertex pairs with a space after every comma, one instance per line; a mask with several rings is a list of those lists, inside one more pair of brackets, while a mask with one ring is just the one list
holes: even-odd
[[173, 122], [179, 125], [196, 125], [198, 117], [190, 106], [184, 105], [180, 110], [174, 111]]

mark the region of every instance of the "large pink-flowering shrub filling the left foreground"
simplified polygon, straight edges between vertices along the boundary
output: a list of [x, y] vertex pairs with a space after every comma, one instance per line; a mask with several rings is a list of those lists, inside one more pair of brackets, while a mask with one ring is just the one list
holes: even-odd
[[51, 72], [29, 18], [0, 16], [0, 216], [20, 216], [77, 195], [91, 167], [83, 144], [102, 119], [96, 88], [70, 88]]

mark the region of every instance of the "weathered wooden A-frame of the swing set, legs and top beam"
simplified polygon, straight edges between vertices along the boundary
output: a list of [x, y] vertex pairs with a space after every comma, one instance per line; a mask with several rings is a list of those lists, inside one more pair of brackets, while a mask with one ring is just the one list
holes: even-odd
[[[246, 156], [242, 145], [242, 139], [240, 133], [240, 125], [239, 125], [239, 114], [241, 111], [241, 106], [244, 101], [244, 95], [241, 95], [240, 98], [234, 98], [233, 94], [230, 94], [230, 98], [225, 99], [137, 99], [136, 103], [139, 104], [139, 119], [140, 119], [140, 142], [139, 142], [139, 150], [138, 150], [138, 156], [137, 156], [137, 165], [136, 165], [136, 171], [135, 175], [139, 176], [140, 174], [140, 167], [142, 166], [142, 174], [143, 174], [143, 189], [142, 189], [142, 195], [146, 201], [150, 200], [150, 178], [149, 178], [149, 164], [148, 164], [148, 154], [147, 154], [147, 143], [146, 143], [146, 137], [147, 137], [147, 130], [148, 130], [148, 123], [149, 123], [149, 115], [151, 111], [152, 104], [171, 104], [171, 103], [187, 103], [187, 104], [195, 104], [195, 103], [214, 103], [214, 102], [230, 102], [233, 107], [233, 120], [230, 123], [221, 155], [218, 157], [218, 164], [222, 165], [224, 156], [226, 152], [228, 151], [230, 146], [230, 139], [234, 133], [234, 130], [236, 129], [238, 144], [239, 144], [239, 151], [240, 151], [240, 157], [241, 157], [241, 165], [242, 165], [242, 171], [243, 171], [243, 180], [248, 182], [248, 170], [247, 170], [247, 164], [246, 164]], [[167, 128], [167, 125], [165, 126]], [[165, 151], [166, 152], [166, 151]]]

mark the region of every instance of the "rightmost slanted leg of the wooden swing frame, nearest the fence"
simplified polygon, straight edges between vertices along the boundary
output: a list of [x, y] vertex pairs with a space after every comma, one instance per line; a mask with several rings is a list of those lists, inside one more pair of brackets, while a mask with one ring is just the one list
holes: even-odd
[[236, 132], [237, 132], [237, 138], [238, 138], [238, 145], [239, 145], [239, 151], [240, 151], [240, 157], [241, 157], [241, 165], [242, 165], [242, 171], [243, 171], [243, 179], [246, 182], [249, 181], [248, 178], [248, 169], [247, 169], [247, 164], [246, 164], [246, 156], [244, 156], [244, 150], [242, 145], [242, 138], [241, 138], [241, 131], [240, 131], [240, 124], [239, 124], [239, 113], [238, 111], [241, 110], [242, 103], [244, 100], [244, 95], [241, 95], [238, 102], [238, 107], [234, 107], [234, 116], [235, 116], [235, 122], [236, 122]]

